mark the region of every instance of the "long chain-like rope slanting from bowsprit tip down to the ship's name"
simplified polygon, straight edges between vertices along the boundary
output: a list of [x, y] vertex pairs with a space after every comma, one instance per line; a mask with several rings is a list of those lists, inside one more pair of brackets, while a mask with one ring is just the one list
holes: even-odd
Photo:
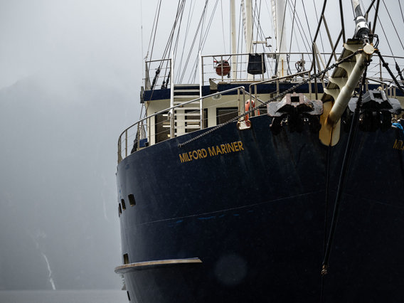
[[228, 120], [227, 122], [224, 122], [223, 124], [220, 124], [216, 127], [213, 127], [213, 129], [209, 129], [206, 132], [203, 132], [202, 134], [198, 134], [198, 136], [193, 137], [189, 140], [187, 140], [186, 142], [183, 143], [179, 143], [178, 147], [184, 147], [186, 144], [193, 142], [197, 139], [200, 139], [203, 136], [206, 136], [207, 134], [211, 134], [211, 132], [215, 132], [216, 130], [220, 129], [221, 127], [224, 127], [227, 124], [230, 124], [231, 122], [235, 122], [236, 120], [245, 117], [246, 115], [249, 115], [250, 113], [254, 112], [255, 110], [258, 110], [260, 107], [264, 107], [265, 105], [267, 105], [270, 102], [273, 102], [277, 99], [281, 99], [282, 97], [284, 97], [287, 93], [289, 92], [293, 92], [294, 90], [296, 90], [297, 87], [300, 87], [306, 83], [309, 83], [309, 81], [313, 80], [314, 78], [319, 78], [319, 76], [325, 74], [326, 72], [328, 72], [329, 70], [335, 68], [336, 66], [340, 65], [341, 63], [344, 63], [345, 61], [349, 60], [350, 58], [352, 58], [354, 55], [357, 55], [358, 53], [361, 53], [361, 50], [356, 50], [355, 53], [351, 53], [351, 55], [346, 56], [344, 59], [342, 59], [341, 61], [338, 61], [336, 63], [334, 63], [333, 65], [330, 65], [328, 68], [326, 68], [325, 70], [320, 71], [317, 74], [312, 75], [310, 78], [307, 78], [306, 80], [303, 80], [302, 83], [299, 83], [297, 85], [294, 85], [292, 87], [290, 87], [289, 89], [285, 90], [285, 92], [280, 93], [279, 95], [276, 95], [275, 97], [272, 97], [270, 100], [268, 100], [267, 102], [264, 102], [260, 105], [258, 105], [257, 107], [252, 107], [250, 110], [248, 110], [247, 112], [244, 112], [241, 115], [238, 115], [238, 117], [234, 117], [230, 120]]

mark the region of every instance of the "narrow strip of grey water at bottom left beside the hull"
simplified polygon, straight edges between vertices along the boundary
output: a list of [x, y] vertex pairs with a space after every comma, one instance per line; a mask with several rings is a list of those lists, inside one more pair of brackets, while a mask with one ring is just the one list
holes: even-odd
[[124, 303], [122, 290], [1, 290], [1, 303]]

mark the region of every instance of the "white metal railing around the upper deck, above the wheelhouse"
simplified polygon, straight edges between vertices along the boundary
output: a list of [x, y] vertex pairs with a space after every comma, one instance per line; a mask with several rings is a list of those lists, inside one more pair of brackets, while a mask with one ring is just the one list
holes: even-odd
[[[340, 33], [341, 36], [341, 33]], [[283, 79], [292, 78], [293, 75], [301, 75], [309, 72], [314, 73], [314, 69], [319, 71], [328, 67], [332, 62], [336, 61], [340, 53], [335, 52], [336, 46], [339, 46], [340, 38], [337, 39], [336, 44], [332, 44], [333, 50], [330, 53], [320, 53], [317, 44], [314, 43], [312, 53], [285, 53], [288, 58], [287, 75], [280, 77]], [[278, 78], [276, 75], [276, 57], [278, 53], [262, 53], [265, 65], [265, 73], [257, 75], [248, 74], [248, 53], [238, 54], [217, 54], [217, 55], [203, 55], [201, 56], [201, 82], [196, 81], [196, 85], [210, 85], [215, 83], [260, 83], [262, 81], [273, 80]], [[398, 71], [395, 68], [395, 63], [398, 63], [398, 68], [401, 72], [404, 69], [404, 57], [383, 55], [386, 62], [389, 63], [390, 69], [393, 70], [396, 76]], [[312, 60], [315, 58], [315, 60]], [[225, 66], [221, 63], [228, 63], [230, 70], [226, 72]], [[315, 68], [314, 68], [315, 64]], [[263, 70], [263, 69], [262, 69]], [[219, 74], [217, 73], [219, 72]], [[149, 60], [145, 63], [144, 89], [145, 90], [159, 90], [170, 87], [171, 81], [171, 59], [164, 60]], [[324, 75], [319, 81], [324, 82], [328, 78]], [[383, 82], [390, 82], [390, 75], [386, 68], [383, 68], [383, 63], [379, 58], [374, 57], [371, 65], [368, 68], [368, 78], [378, 79]], [[280, 79], [279, 79], [280, 80]], [[213, 81], [213, 82], [212, 82]], [[176, 83], [181, 84], [181, 83]], [[191, 84], [191, 83], [186, 83]]]

